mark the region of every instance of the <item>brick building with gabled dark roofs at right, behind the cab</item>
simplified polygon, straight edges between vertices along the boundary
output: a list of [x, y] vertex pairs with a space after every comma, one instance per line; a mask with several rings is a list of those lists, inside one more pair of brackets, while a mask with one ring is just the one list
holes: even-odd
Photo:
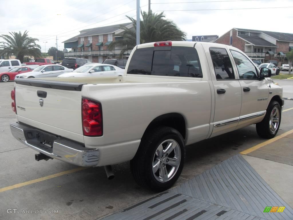
[[281, 65], [288, 63], [285, 54], [293, 49], [293, 34], [233, 28], [214, 43], [236, 47], [252, 60], [276, 60]]

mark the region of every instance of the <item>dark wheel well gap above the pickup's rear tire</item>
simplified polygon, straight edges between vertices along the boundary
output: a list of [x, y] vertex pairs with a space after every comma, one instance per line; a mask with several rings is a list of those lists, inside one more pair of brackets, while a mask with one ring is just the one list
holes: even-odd
[[168, 113], [163, 114], [161, 116], [156, 117], [149, 126], [147, 126], [147, 129], [144, 131], [144, 134], [148, 133], [149, 130], [153, 129], [154, 127], [159, 126], [168, 126], [171, 128], [176, 129], [180, 132], [180, 134], [185, 139], [186, 135], [186, 126], [185, 126], [185, 119], [184, 117], [179, 113]]

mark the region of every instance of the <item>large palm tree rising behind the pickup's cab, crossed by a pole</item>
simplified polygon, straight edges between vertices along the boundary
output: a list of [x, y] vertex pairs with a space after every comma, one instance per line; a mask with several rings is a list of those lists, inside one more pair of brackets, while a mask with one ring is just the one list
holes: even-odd
[[[185, 40], [186, 33], [181, 31], [176, 23], [165, 18], [164, 12], [159, 14], [142, 12], [142, 20], [140, 21], [140, 43], [149, 43], [167, 40]], [[124, 32], [119, 34], [123, 36], [121, 40], [115, 40], [109, 48], [112, 50], [115, 46], [122, 46], [120, 58], [127, 50], [132, 50], [136, 46], [136, 20], [126, 16], [133, 23], [133, 28], [120, 26]]]

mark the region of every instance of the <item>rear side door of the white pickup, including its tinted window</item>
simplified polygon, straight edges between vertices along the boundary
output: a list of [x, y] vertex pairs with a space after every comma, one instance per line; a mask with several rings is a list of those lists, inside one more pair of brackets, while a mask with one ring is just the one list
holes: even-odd
[[[208, 47], [203, 45], [203, 47]], [[209, 51], [209, 66], [215, 94], [215, 111], [211, 137], [233, 131], [239, 122], [241, 86], [227, 48], [205, 48]]]

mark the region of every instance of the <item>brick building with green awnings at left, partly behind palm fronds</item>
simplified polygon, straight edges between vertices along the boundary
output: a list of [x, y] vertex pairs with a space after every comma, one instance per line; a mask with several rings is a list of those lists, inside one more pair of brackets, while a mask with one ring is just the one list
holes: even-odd
[[[108, 58], [118, 58], [121, 47], [116, 46], [115, 49], [109, 50], [108, 46], [112, 41], [123, 38], [119, 36], [119, 33], [123, 32], [120, 25], [133, 27], [132, 23], [123, 23], [80, 31], [79, 35], [62, 42], [64, 48], [71, 48], [71, 52], [64, 53], [64, 56], [81, 57], [99, 63]], [[125, 53], [123, 58], [129, 56], [130, 52]]]

